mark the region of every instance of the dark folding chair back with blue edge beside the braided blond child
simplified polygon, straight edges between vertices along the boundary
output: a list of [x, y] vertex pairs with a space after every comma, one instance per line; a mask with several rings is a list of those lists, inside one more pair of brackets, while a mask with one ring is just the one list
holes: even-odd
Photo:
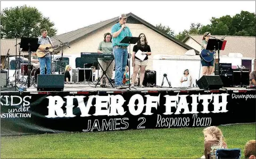
[[216, 150], [216, 159], [219, 159], [219, 158], [240, 159], [240, 157], [241, 157], [241, 149], [239, 148], [231, 148], [231, 149], [220, 148]]

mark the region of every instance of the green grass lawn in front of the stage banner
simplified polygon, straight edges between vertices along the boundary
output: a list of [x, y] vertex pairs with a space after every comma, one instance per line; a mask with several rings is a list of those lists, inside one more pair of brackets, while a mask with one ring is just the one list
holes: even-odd
[[[255, 123], [219, 126], [228, 148], [255, 139]], [[1, 137], [1, 158], [200, 158], [203, 128]], [[242, 153], [243, 156], [243, 153]]]

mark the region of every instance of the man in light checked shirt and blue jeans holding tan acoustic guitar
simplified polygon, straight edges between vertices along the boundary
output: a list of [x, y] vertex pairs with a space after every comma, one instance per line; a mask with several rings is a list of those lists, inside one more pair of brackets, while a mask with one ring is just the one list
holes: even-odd
[[[38, 37], [38, 44], [46, 45], [51, 44], [53, 45], [52, 40], [47, 36], [47, 30], [41, 29], [42, 36]], [[44, 47], [39, 46], [40, 50], [45, 50]], [[51, 54], [46, 54], [44, 57], [38, 57], [40, 63], [40, 74], [45, 74], [45, 65], [47, 70], [47, 75], [51, 74]]]

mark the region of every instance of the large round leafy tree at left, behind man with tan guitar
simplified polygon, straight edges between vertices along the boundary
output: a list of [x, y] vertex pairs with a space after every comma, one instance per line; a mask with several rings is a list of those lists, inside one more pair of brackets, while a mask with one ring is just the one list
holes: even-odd
[[18, 38], [38, 37], [43, 28], [52, 37], [56, 34], [53, 26], [54, 23], [35, 7], [16, 6], [4, 8], [1, 12], [1, 38], [12, 39], [15, 34]]

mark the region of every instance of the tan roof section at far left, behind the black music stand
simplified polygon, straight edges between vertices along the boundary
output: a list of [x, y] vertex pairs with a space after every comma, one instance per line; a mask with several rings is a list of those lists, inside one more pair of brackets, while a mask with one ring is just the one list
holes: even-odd
[[[20, 42], [20, 39], [17, 39], [17, 43]], [[10, 56], [15, 56], [16, 54], [16, 39], [1, 39], [1, 56], [6, 56], [8, 50]], [[17, 46], [17, 55], [19, 55], [19, 45]], [[27, 55], [27, 54], [26, 54]]]

